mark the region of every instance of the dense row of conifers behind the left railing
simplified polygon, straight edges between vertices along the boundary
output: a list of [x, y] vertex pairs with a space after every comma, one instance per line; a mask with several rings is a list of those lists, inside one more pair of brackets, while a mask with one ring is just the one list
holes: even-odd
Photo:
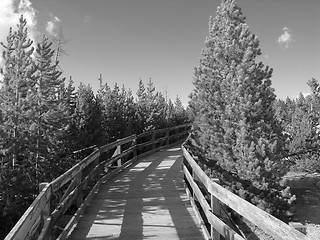
[[[43, 36], [33, 47], [26, 20], [10, 29], [4, 48], [0, 88], [1, 235], [14, 226], [50, 182], [81, 160], [78, 150], [101, 146], [144, 131], [188, 122], [179, 97], [157, 92], [151, 79], [131, 90], [103, 83], [76, 89], [59, 69], [54, 45]], [[77, 154], [75, 154], [77, 152]]]

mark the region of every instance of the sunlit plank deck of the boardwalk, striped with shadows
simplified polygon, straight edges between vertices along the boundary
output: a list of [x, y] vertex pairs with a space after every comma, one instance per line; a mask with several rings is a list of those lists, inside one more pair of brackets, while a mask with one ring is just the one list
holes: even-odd
[[68, 239], [204, 239], [188, 201], [179, 146], [104, 183]]

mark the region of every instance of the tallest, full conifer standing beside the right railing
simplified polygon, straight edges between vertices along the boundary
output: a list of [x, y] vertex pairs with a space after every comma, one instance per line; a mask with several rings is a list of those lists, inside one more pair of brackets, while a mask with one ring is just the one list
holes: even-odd
[[[246, 182], [233, 190], [243, 192], [250, 183], [257, 195], [279, 188], [277, 182], [285, 173], [280, 161], [281, 128], [273, 108], [272, 69], [256, 62], [259, 55], [258, 37], [250, 33], [236, 1], [223, 0], [209, 21], [190, 101], [207, 158]], [[256, 194], [243, 197], [276, 211], [277, 196], [261, 200]]]

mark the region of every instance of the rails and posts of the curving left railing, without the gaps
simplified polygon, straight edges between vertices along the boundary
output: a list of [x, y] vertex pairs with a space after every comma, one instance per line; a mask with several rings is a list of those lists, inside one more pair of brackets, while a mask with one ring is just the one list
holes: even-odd
[[[122, 139], [118, 139], [112, 143], [108, 143], [101, 147], [97, 147], [96, 149], [94, 149], [94, 151], [91, 154], [89, 154], [87, 157], [85, 157], [75, 166], [67, 170], [65, 173], [63, 173], [62, 175], [54, 179], [52, 182], [42, 184], [42, 189], [39, 195], [33, 201], [33, 203], [29, 206], [29, 208], [26, 210], [23, 216], [19, 219], [16, 225], [11, 229], [9, 234], [6, 236], [5, 240], [35, 239], [35, 236], [39, 236], [39, 239], [47, 239], [48, 231], [52, 229], [52, 225], [54, 224], [52, 219], [56, 221], [57, 218], [59, 218], [59, 216], [61, 216], [64, 213], [67, 207], [70, 206], [72, 202], [77, 199], [77, 197], [79, 197], [79, 195], [82, 198], [81, 189], [83, 188], [84, 185], [88, 185], [88, 182], [92, 178], [92, 175], [97, 175], [99, 177], [99, 173], [100, 173], [99, 171], [101, 171], [101, 169], [104, 168], [106, 165], [108, 166], [112, 165], [114, 163], [117, 163], [117, 161], [121, 162], [122, 158], [124, 158], [129, 153], [134, 152], [131, 160], [124, 163], [123, 165], [121, 165], [121, 163], [119, 165], [118, 163], [118, 166], [117, 166], [118, 170], [111, 172], [109, 174], [111, 177], [117, 174], [118, 172], [120, 172], [121, 170], [123, 170], [124, 168], [126, 168], [127, 166], [129, 166], [138, 157], [151, 154], [157, 150], [168, 147], [172, 144], [176, 144], [178, 141], [184, 140], [187, 137], [190, 126], [191, 124], [183, 124], [183, 125], [175, 126], [172, 128], [158, 129], [150, 132], [145, 132], [138, 136], [134, 134]], [[170, 135], [170, 132], [176, 129], [182, 129], [183, 132], [174, 133]], [[155, 139], [155, 135], [160, 132], [166, 132], [166, 136], [160, 137], [159, 139]], [[148, 135], [153, 136], [151, 140], [141, 143], [139, 145], [136, 144], [137, 139], [148, 136]], [[184, 139], [181, 139], [183, 135], [185, 135], [185, 137]], [[175, 138], [177, 138], [177, 140]], [[173, 139], [174, 141], [170, 143], [170, 139]], [[121, 152], [122, 151], [121, 146], [130, 142], [132, 142], [131, 147]], [[165, 145], [163, 144], [161, 145], [161, 142], [164, 142]], [[156, 147], [156, 143], [160, 143], [160, 146]], [[141, 152], [137, 154], [138, 150], [140, 150], [141, 148], [147, 148], [147, 146], [150, 146], [150, 145], [152, 146], [151, 150], [147, 150], [145, 152]], [[116, 148], [115, 153], [110, 159], [103, 160], [101, 162], [99, 161], [99, 157], [101, 156], [102, 153], [112, 150], [114, 148]], [[88, 167], [90, 164], [94, 164], [94, 165], [92, 166], [92, 169], [89, 172], [88, 176], [86, 177], [82, 176], [82, 170]], [[78, 209], [76, 214], [79, 215], [79, 213], [81, 212], [81, 208], [84, 208], [84, 205], [86, 205], [87, 202], [89, 201], [89, 196], [92, 197], [93, 195], [92, 192], [94, 192], [93, 190], [97, 189], [99, 184], [101, 184], [100, 180], [97, 180], [96, 184], [91, 189], [91, 192], [89, 193], [88, 197], [84, 201], [82, 199], [82, 204], [80, 203], [81, 205], [79, 207], [80, 211]], [[63, 199], [60, 199], [60, 202], [58, 204], [59, 206], [52, 211], [52, 214], [54, 215], [51, 216], [50, 198], [55, 192], [57, 192], [59, 189], [65, 186], [68, 182], [71, 182], [71, 183], [68, 189], [65, 191], [65, 194], [63, 195]], [[72, 218], [70, 222], [74, 224], [75, 218]], [[62, 234], [62, 235], [65, 236], [65, 234]], [[63, 239], [63, 237], [60, 237], [60, 236], [58, 239]]]

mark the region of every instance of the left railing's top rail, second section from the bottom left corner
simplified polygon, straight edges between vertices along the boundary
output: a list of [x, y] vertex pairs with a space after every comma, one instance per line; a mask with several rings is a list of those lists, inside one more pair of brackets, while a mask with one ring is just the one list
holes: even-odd
[[59, 190], [62, 186], [64, 186], [67, 182], [74, 178], [80, 171], [82, 171], [86, 166], [88, 166], [90, 163], [96, 160], [99, 156], [100, 151], [96, 149], [94, 152], [92, 152], [90, 155], [84, 158], [81, 162], [79, 162], [74, 167], [66, 171], [64, 174], [53, 180], [51, 182], [52, 191], [56, 192], [57, 190]]

